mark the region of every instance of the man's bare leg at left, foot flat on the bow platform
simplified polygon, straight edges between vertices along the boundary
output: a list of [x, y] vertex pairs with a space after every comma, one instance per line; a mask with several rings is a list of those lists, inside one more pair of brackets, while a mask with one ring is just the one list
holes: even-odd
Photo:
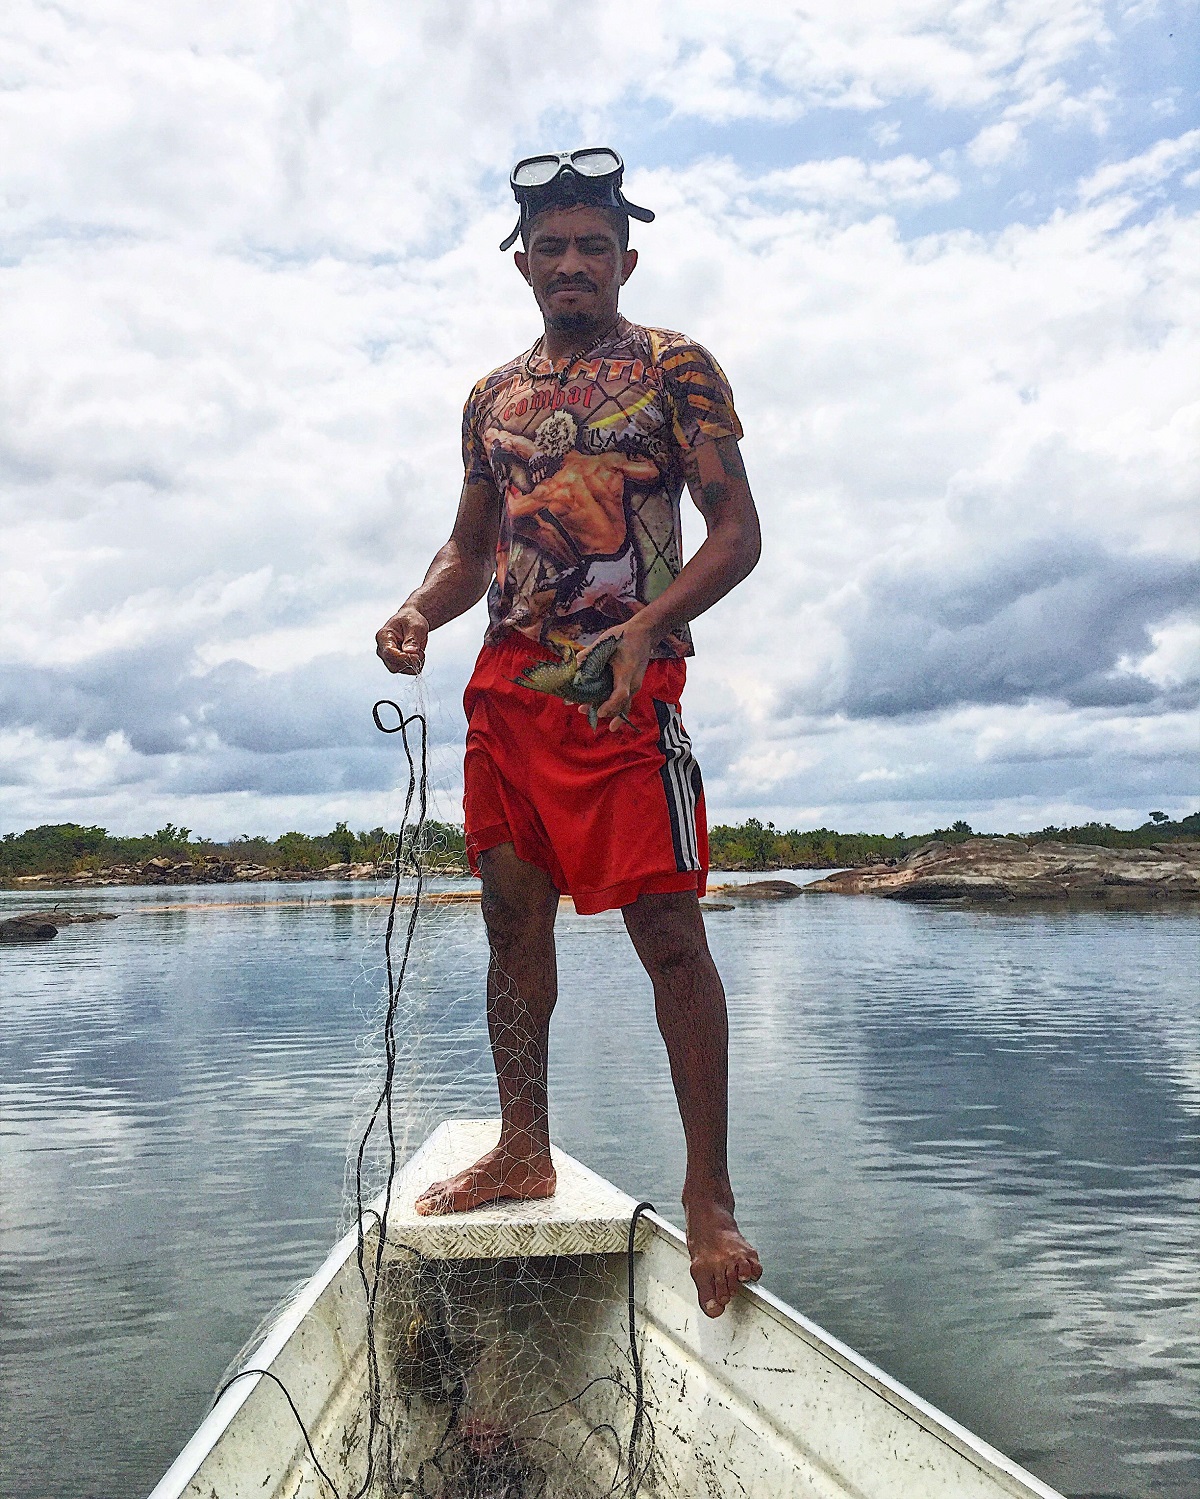
[[487, 965], [487, 1028], [500, 1088], [500, 1142], [416, 1199], [416, 1211], [466, 1213], [503, 1198], [548, 1198], [554, 1192], [545, 1052], [557, 998], [554, 917], [559, 892], [550, 875], [517, 857], [512, 844], [479, 859], [482, 911], [491, 949]]

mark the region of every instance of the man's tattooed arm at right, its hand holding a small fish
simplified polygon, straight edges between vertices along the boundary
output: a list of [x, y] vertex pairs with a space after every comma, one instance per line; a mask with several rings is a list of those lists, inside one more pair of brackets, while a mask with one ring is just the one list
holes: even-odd
[[620, 726], [616, 715], [629, 708], [659, 640], [712, 609], [736, 588], [752, 571], [763, 549], [758, 511], [737, 438], [715, 438], [692, 448], [686, 478], [709, 535], [652, 604], [599, 637], [622, 637], [611, 663], [613, 696], [598, 709], [601, 718], [613, 720], [610, 729]]

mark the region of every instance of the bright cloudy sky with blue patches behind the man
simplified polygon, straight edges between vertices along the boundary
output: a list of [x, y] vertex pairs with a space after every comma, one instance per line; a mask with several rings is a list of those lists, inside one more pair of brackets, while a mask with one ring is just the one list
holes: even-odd
[[[658, 211], [623, 310], [721, 360], [764, 519], [695, 628], [712, 815], [1200, 806], [1196, 0], [0, 28], [0, 830], [393, 815], [373, 634], [448, 531], [467, 390], [538, 333], [508, 168], [584, 142]], [[448, 817], [481, 631], [399, 688]]]

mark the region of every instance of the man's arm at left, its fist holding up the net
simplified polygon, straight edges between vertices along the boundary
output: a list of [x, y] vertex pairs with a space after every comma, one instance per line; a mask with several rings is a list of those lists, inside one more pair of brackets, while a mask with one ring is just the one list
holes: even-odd
[[375, 652], [390, 672], [416, 676], [425, 664], [430, 630], [464, 615], [487, 592], [496, 573], [500, 496], [487, 481], [464, 484], [449, 541], [375, 637]]

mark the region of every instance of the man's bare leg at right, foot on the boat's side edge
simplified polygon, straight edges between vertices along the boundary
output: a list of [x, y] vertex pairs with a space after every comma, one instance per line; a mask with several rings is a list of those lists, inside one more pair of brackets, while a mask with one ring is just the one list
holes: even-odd
[[701, 1309], [721, 1316], [763, 1265], [734, 1219], [727, 1159], [730, 1024], [694, 893], [643, 895], [622, 910], [655, 986], [655, 1013], [688, 1142], [683, 1214]]

